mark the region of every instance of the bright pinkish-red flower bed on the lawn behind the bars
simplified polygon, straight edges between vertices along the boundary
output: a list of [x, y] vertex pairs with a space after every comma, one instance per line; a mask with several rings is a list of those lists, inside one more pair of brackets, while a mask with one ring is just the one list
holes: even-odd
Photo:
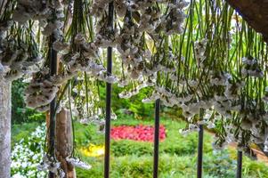
[[[111, 128], [111, 138], [118, 140], [133, 140], [141, 142], [153, 142], [154, 140], [154, 126], [150, 125], [119, 125]], [[164, 125], [159, 127], [159, 139], [164, 141], [166, 139], [166, 128]]]

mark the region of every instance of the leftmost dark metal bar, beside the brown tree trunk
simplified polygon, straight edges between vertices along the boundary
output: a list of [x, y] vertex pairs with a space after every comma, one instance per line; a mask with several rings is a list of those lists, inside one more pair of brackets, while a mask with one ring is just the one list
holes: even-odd
[[[57, 52], [53, 50], [53, 42], [55, 37], [50, 36], [50, 47], [49, 47], [49, 67], [50, 76], [57, 74]], [[51, 156], [55, 157], [55, 129], [56, 129], [56, 97], [50, 103], [50, 120], [49, 120], [49, 153]], [[49, 172], [49, 178], [54, 178], [55, 174]]]

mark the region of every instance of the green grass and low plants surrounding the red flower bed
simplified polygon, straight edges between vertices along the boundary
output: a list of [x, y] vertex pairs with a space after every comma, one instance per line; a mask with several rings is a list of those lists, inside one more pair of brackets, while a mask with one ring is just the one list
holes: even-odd
[[[152, 119], [137, 120], [132, 117], [119, 117], [112, 125], [153, 125]], [[37, 123], [14, 125], [12, 140], [20, 141], [35, 129]], [[166, 140], [159, 145], [159, 177], [191, 178], [196, 177], [198, 134], [183, 137], [179, 129], [185, 126], [183, 121], [161, 117], [161, 125], [166, 127]], [[104, 135], [97, 134], [94, 125], [75, 123], [77, 155], [92, 165], [90, 170], [77, 168], [77, 178], [103, 177], [103, 157], [85, 157], [79, 150], [89, 144], [102, 145]], [[236, 150], [229, 148], [213, 151], [213, 136], [205, 133], [204, 141], [204, 177], [235, 177]], [[153, 143], [135, 141], [111, 141], [110, 177], [111, 178], [151, 178], [153, 164]], [[268, 178], [268, 167], [264, 163], [243, 159], [243, 177]]]

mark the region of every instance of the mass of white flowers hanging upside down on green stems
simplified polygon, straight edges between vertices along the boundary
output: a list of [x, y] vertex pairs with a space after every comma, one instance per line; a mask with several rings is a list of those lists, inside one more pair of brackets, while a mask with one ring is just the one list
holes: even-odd
[[[188, 121], [182, 134], [207, 125], [215, 129], [215, 149], [237, 142], [240, 150], [256, 143], [268, 151], [267, 46], [226, 2], [12, 0], [4, 8], [0, 77], [31, 78], [25, 91], [28, 107], [47, 111], [58, 94], [58, 111], [68, 108], [82, 123], [103, 131], [100, 82], [125, 88], [120, 98], [150, 88], [142, 102], [160, 99], [166, 107], [182, 109]], [[60, 60], [53, 77], [46, 60], [52, 34]], [[122, 64], [117, 74], [104, 67], [108, 46]], [[75, 155], [67, 161], [90, 167]], [[39, 168], [64, 176], [49, 155]]]

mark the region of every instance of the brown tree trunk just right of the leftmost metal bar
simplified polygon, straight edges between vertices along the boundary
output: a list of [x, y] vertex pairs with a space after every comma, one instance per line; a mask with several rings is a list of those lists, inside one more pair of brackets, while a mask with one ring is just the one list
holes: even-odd
[[72, 123], [69, 111], [61, 109], [56, 119], [56, 157], [61, 162], [61, 168], [66, 174], [66, 178], [75, 178], [74, 167], [71, 166], [67, 158], [73, 150]]

